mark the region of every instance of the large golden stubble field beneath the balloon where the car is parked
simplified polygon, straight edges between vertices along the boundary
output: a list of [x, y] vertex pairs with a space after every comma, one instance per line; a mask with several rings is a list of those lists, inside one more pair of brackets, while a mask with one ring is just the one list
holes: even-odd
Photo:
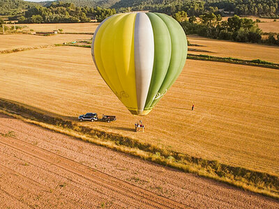
[[[0, 74], [1, 98], [68, 119], [86, 112], [113, 114], [114, 123], [82, 124], [278, 175], [279, 70], [188, 60], [174, 86], [145, 117], [132, 116], [110, 91], [87, 48], [1, 54]], [[144, 134], [133, 132], [139, 119]]]

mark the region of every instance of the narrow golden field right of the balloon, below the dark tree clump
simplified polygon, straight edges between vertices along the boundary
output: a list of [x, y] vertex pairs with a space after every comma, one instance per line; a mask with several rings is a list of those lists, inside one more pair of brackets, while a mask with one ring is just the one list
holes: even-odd
[[190, 44], [201, 45], [200, 47], [189, 46], [190, 49], [208, 51], [188, 51], [190, 54], [208, 54], [211, 56], [233, 57], [246, 60], [261, 59], [264, 61], [279, 63], [279, 47], [276, 46], [216, 40], [202, 38], [200, 36], [187, 36], [187, 38]]

